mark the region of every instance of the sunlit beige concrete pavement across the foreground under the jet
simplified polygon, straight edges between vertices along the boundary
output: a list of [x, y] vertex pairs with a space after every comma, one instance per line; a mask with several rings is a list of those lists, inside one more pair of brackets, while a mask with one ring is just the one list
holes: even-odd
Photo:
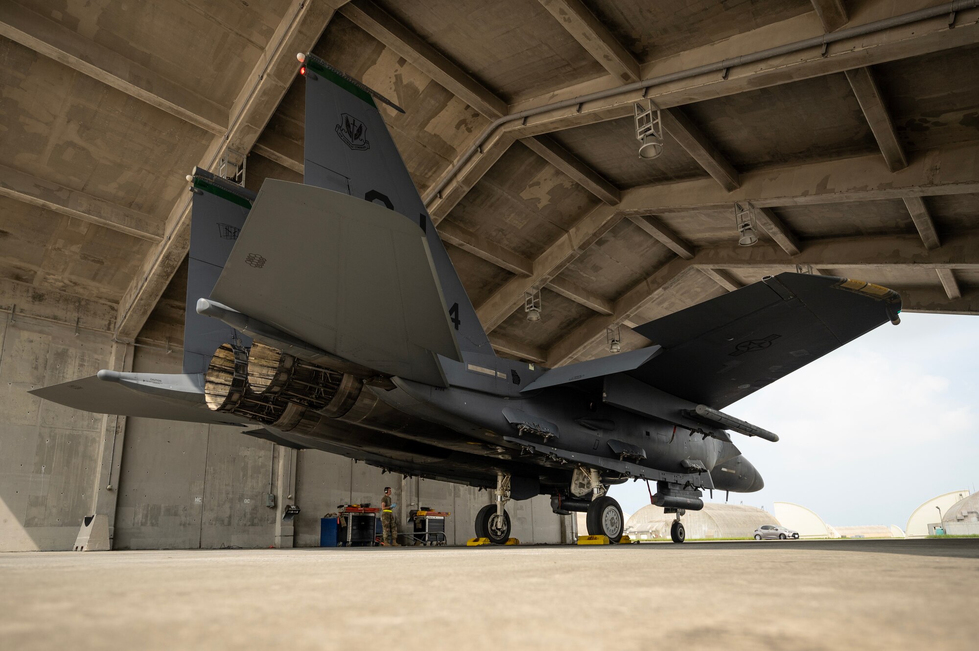
[[979, 539], [0, 554], [4, 649], [976, 649]]

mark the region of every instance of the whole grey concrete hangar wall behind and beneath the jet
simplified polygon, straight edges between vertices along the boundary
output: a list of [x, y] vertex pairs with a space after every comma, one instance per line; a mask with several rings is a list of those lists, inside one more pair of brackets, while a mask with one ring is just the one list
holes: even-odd
[[[319, 544], [319, 518], [338, 504], [379, 502], [395, 489], [401, 531], [419, 505], [451, 513], [447, 538], [475, 535], [489, 491], [383, 474], [328, 453], [291, 451], [237, 427], [76, 412], [26, 393], [99, 369], [179, 372], [181, 354], [116, 344], [107, 332], [0, 313], [0, 551], [67, 550], [81, 520], [109, 519], [114, 548], [185, 549]], [[110, 488], [111, 487], [111, 488]], [[274, 508], [265, 505], [275, 496]], [[283, 526], [284, 504], [302, 512]], [[571, 540], [547, 498], [510, 502], [522, 542]]]

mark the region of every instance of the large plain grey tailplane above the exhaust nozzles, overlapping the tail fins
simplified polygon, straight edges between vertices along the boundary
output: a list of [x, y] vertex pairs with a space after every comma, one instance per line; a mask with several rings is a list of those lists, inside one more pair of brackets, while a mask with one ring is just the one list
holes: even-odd
[[322, 188], [266, 180], [210, 297], [390, 375], [462, 359], [418, 223]]

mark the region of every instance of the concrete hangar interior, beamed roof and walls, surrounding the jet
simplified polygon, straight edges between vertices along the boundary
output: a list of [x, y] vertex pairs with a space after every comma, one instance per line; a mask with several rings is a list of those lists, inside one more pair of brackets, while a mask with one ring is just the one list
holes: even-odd
[[[67, 548], [94, 512], [137, 546], [290, 538], [239, 493], [281, 508], [325, 471], [311, 456], [24, 391], [178, 368], [184, 177], [199, 165], [253, 191], [301, 179], [298, 52], [405, 109], [381, 110], [502, 355], [555, 367], [607, 354], [610, 337], [638, 348], [630, 325], [781, 271], [883, 284], [905, 311], [976, 314], [979, 9], [905, 4], [0, 4], [0, 409], [19, 441], [0, 459], [0, 499], [18, 536]], [[643, 100], [661, 111], [651, 160], [635, 139]], [[738, 245], [735, 204], [752, 246]], [[179, 489], [140, 483], [185, 455], [207, 460]], [[239, 470], [236, 486], [212, 481]], [[357, 487], [334, 501], [384, 482], [330, 472]], [[163, 537], [163, 522], [181, 533]]]

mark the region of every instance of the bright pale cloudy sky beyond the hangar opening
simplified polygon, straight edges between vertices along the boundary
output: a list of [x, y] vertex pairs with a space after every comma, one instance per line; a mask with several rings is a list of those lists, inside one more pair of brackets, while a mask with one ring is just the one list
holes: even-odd
[[[765, 479], [732, 503], [904, 529], [922, 502], [979, 487], [979, 318], [903, 313], [723, 411], [781, 438], [731, 433]], [[609, 494], [627, 513], [649, 503], [645, 482]]]

